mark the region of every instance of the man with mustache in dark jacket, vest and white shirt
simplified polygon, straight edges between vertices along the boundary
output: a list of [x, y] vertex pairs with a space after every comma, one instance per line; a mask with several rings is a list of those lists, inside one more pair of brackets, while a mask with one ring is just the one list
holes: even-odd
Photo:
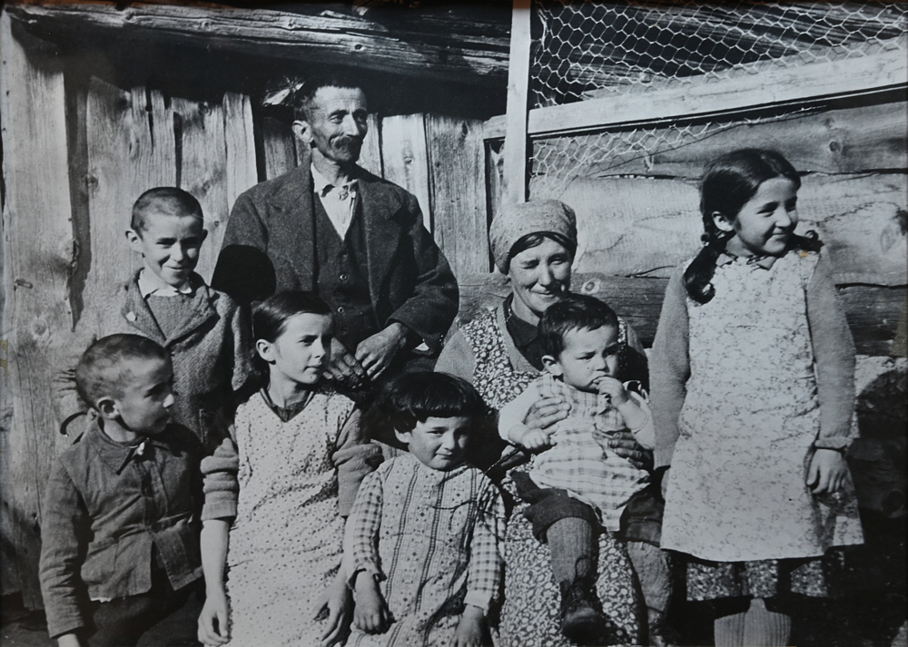
[[331, 306], [329, 375], [369, 387], [431, 368], [458, 309], [457, 281], [410, 192], [357, 165], [366, 96], [340, 77], [298, 93], [293, 132], [311, 164], [245, 191], [233, 206], [212, 286], [241, 302], [314, 291]]

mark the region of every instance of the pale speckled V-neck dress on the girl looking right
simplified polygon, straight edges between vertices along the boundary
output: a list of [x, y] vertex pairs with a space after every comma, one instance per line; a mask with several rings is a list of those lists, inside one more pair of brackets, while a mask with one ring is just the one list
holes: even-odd
[[318, 645], [314, 610], [341, 564], [332, 455], [353, 403], [317, 391], [287, 422], [254, 395], [236, 412], [240, 497], [230, 531], [231, 645]]

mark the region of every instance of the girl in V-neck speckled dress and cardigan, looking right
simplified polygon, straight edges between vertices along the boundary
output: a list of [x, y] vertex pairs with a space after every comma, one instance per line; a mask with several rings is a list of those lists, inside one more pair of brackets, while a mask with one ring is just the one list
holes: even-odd
[[350, 398], [322, 380], [332, 332], [328, 306], [308, 292], [281, 292], [252, 314], [263, 386], [237, 408], [236, 446], [227, 439], [202, 463], [205, 644], [328, 645], [346, 630], [343, 516], [380, 450], [362, 444]]

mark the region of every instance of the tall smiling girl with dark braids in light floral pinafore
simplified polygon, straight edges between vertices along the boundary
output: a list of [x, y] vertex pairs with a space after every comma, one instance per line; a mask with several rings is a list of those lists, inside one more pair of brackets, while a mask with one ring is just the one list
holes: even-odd
[[669, 280], [650, 359], [662, 546], [719, 646], [788, 644], [796, 596], [830, 593], [827, 551], [863, 541], [854, 344], [819, 241], [795, 234], [800, 185], [772, 151], [706, 168], [706, 244]]

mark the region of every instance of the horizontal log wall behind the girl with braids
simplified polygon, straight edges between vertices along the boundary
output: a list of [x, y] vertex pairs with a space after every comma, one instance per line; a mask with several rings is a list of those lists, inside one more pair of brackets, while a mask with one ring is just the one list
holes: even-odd
[[[653, 300], [659, 280], [700, 244], [697, 179], [704, 165], [735, 148], [775, 148], [804, 172], [799, 227], [816, 230], [824, 240], [859, 352], [885, 355], [908, 286], [906, 133], [902, 102], [732, 123], [706, 138], [628, 156], [633, 159], [626, 162], [588, 162], [569, 181], [557, 176], [561, 170], [539, 175], [530, 182], [530, 193], [557, 197], [577, 211], [576, 271], [599, 280], [615, 277], [621, 290], [637, 294], [619, 314], [639, 321], [647, 342], [661, 301]], [[654, 140], [668, 140], [667, 135], [651, 133]], [[586, 141], [596, 145], [592, 138]]]

